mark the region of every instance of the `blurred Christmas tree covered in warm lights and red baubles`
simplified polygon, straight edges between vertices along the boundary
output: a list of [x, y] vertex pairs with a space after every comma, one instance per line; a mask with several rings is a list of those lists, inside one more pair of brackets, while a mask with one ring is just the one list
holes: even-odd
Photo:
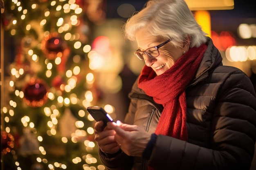
[[4, 170], [104, 170], [95, 121], [86, 111], [94, 105], [113, 110], [99, 100], [88, 61], [92, 28], [103, 19], [102, 11], [92, 15], [90, 1], [82, 0], [5, 0], [4, 5], [10, 62], [2, 107]]

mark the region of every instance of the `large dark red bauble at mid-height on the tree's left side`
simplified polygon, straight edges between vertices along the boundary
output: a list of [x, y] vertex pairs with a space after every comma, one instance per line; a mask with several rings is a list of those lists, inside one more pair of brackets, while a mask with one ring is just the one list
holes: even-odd
[[48, 86], [42, 79], [32, 77], [30, 82], [25, 86], [24, 102], [30, 107], [40, 107], [47, 102]]

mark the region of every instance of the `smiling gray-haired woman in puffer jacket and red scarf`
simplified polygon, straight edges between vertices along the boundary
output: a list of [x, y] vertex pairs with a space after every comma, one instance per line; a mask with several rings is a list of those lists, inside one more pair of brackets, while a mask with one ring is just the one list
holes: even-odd
[[249, 170], [256, 97], [245, 73], [222, 65], [184, 0], [150, 0], [125, 24], [145, 62], [124, 123], [95, 124], [109, 170]]

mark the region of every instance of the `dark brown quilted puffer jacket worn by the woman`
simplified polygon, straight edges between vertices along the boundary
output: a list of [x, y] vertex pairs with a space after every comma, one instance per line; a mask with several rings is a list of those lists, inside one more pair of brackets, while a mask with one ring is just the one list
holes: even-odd
[[[207, 42], [195, 79], [186, 88], [189, 140], [159, 135], [148, 161], [120, 153], [101, 160], [110, 170], [249, 170], [256, 140], [256, 97], [245, 73], [222, 66], [222, 57]], [[162, 106], [135, 82], [125, 123], [153, 133]]]

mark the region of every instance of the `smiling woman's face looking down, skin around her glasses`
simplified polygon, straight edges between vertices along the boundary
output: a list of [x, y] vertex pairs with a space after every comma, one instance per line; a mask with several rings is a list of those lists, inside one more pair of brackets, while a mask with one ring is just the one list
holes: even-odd
[[[157, 42], [154, 36], [145, 36], [144, 30], [140, 30], [136, 34], [136, 41], [138, 44], [139, 51], [145, 51], [146, 49], [158, 46], [159, 44], [165, 42], [166, 40], [161, 40]], [[145, 55], [146, 66], [151, 67], [157, 75], [163, 74], [173, 64], [183, 55], [184, 51], [187, 51], [187, 48], [177, 47], [175, 48], [170, 42], [158, 49], [159, 56], [152, 58], [148, 55]]]

